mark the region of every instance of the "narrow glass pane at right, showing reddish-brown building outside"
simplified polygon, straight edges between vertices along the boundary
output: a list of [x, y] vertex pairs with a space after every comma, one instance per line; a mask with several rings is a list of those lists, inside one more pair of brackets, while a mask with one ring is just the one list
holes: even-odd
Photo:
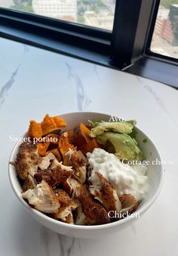
[[178, 58], [178, 0], [161, 0], [151, 50]]

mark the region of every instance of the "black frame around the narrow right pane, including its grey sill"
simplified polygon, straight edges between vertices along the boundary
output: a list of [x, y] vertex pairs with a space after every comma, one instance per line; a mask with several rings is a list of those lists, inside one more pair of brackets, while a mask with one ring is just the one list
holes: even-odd
[[132, 66], [127, 68], [126, 72], [143, 76], [178, 89], [178, 60], [157, 54], [150, 49], [160, 2], [160, 0], [152, 1], [145, 42], [140, 44], [142, 55], [133, 62]]

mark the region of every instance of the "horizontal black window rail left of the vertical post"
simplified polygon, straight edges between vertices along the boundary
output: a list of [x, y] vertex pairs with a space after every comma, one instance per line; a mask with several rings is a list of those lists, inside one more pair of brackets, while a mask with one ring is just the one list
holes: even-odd
[[0, 36], [52, 52], [106, 64], [112, 34], [107, 30], [79, 23], [0, 8]]

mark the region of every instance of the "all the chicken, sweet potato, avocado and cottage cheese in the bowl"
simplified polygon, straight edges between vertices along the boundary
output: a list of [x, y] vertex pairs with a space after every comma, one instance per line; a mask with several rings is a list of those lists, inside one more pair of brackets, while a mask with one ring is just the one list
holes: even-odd
[[[87, 120], [85, 120], [87, 121]], [[66, 120], [30, 121], [15, 168], [22, 197], [63, 223], [100, 225], [136, 211], [149, 189], [134, 120], [89, 120], [67, 129]]]

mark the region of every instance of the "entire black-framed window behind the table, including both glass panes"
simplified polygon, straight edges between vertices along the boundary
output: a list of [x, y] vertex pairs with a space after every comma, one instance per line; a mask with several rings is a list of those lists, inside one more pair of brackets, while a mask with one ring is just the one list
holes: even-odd
[[0, 36], [178, 87], [177, 2], [0, 0]]

